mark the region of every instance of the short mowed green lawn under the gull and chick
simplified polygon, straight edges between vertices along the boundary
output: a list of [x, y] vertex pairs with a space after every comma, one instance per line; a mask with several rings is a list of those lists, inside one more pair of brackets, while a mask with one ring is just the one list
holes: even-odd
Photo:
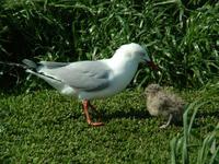
[[[198, 91], [183, 91], [188, 103]], [[45, 90], [0, 96], [0, 163], [170, 163], [170, 141], [183, 131], [146, 110], [142, 91], [94, 101], [105, 126], [87, 125], [74, 98]], [[193, 133], [200, 143], [218, 122], [218, 104], [203, 106]], [[196, 156], [196, 147], [191, 156]]]

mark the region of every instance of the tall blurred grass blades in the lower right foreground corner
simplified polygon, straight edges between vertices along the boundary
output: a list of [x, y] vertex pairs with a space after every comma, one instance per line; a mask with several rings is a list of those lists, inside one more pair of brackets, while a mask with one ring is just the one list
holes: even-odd
[[[212, 106], [215, 110], [218, 110], [219, 103], [219, 83], [207, 84], [203, 91], [199, 92], [200, 96], [197, 97], [193, 103], [187, 106], [186, 112], [183, 116], [183, 133], [174, 137], [171, 140], [171, 153], [172, 153], [172, 164], [178, 163], [197, 163], [197, 164], [217, 164], [219, 163], [219, 120], [217, 125], [212, 127], [212, 130], [208, 132], [203, 141], [195, 141], [194, 137], [194, 125], [196, 126], [195, 118], [200, 110], [207, 110], [209, 106]], [[191, 118], [188, 119], [188, 116]], [[201, 114], [210, 115], [208, 114]], [[212, 113], [214, 116], [218, 118], [218, 112]], [[197, 138], [195, 138], [197, 139]], [[195, 149], [194, 149], [195, 148]], [[196, 157], [192, 159], [192, 151], [196, 151]], [[180, 157], [182, 156], [182, 157]]]

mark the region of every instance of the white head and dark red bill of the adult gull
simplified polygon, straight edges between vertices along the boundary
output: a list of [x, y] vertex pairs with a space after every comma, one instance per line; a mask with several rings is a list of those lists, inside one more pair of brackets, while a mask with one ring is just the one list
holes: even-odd
[[140, 45], [131, 43], [120, 46], [115, 54], [116, 57], [123, 60], [130, 60], [137, 63], [146, 63], [151, 67], [153, 70], [158, 69], [158, 67], [153, 63], [153, 61], [148, 56], [148, 52]]

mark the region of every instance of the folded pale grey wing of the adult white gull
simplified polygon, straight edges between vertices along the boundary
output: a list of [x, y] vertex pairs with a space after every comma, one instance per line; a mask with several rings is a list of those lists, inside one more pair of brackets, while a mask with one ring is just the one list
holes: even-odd
[[42, 72], [72, 87], [88, 92], [110, 85], [111, 69], [100, 61], [72, 62], [65, 67], [45, 69]]

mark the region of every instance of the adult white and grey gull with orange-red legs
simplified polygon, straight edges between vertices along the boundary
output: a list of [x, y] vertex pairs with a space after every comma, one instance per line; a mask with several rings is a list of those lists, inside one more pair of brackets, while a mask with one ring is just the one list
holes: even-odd
[[157, 69], [147, 51], [135, 43], [120, 46], [110, 59], [38, 63], [24, 59], [23, 62], [28, 73], [45, 80], [61, 94], [82, 101], [87, 121], [91, 126], [102, 126], [103, 122], [92, 121], [88, 109], [90, 107], [95, 113], [96, 109], [90, 101], [123, 91], [130, 83], [140, 62]]

